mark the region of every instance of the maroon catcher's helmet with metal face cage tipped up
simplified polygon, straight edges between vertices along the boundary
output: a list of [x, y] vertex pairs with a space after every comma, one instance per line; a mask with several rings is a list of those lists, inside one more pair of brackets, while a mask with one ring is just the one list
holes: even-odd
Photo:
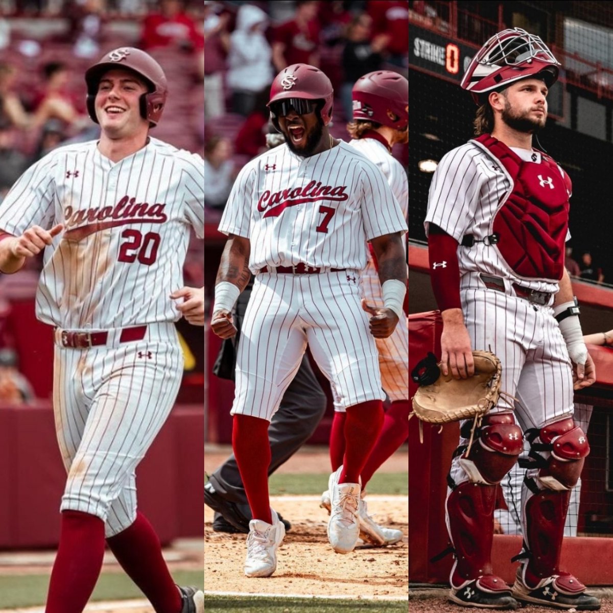
[[521, 28], [494, 34], [474, 56], [460, 87], [481, 104], [485, 92], [504, 88], [522, 78], [543, 78], [547, 87], [557, 78], [560, 63], [543, 40]]

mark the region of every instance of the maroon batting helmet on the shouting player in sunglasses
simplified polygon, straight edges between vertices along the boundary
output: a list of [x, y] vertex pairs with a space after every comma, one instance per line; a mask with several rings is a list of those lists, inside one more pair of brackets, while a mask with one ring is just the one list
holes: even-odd
[[327, 126], [332, 120], [333, 97], [332, 83], [319, 68], [309, 64], [292, 64], [276, 75], [270, 86], [267, 107], [270, 109], [273, 126], [280, 132], [278, 118], [270, 107], [273, 102], [287, 98], [321, 100], [323, 105], [317, 112], [324, 126]]

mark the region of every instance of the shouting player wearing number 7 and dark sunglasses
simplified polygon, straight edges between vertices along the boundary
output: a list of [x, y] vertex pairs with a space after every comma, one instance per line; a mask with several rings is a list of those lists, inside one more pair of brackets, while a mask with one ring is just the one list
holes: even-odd
[[[283, 524], [271, 511], [268, 422], [305, 348], [347, 407], [343, 465], [329, 479], [328, 536], [346, 554], [359, 536], [359, 476], [383, 422], [376, 338], [403, 316], [406, 264], [402, 210], [377, 167], [333, 139], [332, 84], [292, 64], [270, 89], [271, 116], [286, 145], [246, 164], [219, 230], [229, 236], [215, 287], [211, 328], [235, 333], [231, 310], [249, 271], [256, 275], [238, 344], [232, 446], [254, 519], [245, 574], [270, 576]], [[374, 205], [373, 205], [374, 203]], [[379, 264], [383, 307], [360, 303], [366, 240]]]

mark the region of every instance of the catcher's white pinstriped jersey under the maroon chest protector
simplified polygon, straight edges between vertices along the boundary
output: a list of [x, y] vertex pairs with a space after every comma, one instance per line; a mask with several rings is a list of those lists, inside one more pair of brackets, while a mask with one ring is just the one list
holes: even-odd
[[[538, 151], [511, 148], [522, 160], [541, 164]], [[560, 173], [564, 171], [558, 166]], [[474, 143], [466, 143], [443, 156], [430, 185], [425, 229], [428, 224], [439, 226], [459, 243], [466, 234], [483, 240], [492, 234], [493, 218], [511, 192], [511, 179], [501, 164]], [[570, 194], [569, 194], [570, 195]], [[570, 238], [567, 234], [566, 240]], [[504, 240], [501, 237], [500, 240]], [[470, 283], [468, 272], [483, 272], [501, 276], [523, 287], [555, 293], [558, 284], [546, 280], [523, 278], [504, 261], [496, 245], [477, 242], [472, 247], [457, 250], [460, 264], [460, 289]]]

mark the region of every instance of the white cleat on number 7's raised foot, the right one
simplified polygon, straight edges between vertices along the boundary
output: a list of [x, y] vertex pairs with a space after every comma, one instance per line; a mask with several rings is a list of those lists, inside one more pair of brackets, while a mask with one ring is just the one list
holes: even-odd
[[337, 554], [348, 554], [356, 547], [360, 536], [360, 484], [339, 483], [343, 466], [330, 475], [330, 519], [328, 540]]

